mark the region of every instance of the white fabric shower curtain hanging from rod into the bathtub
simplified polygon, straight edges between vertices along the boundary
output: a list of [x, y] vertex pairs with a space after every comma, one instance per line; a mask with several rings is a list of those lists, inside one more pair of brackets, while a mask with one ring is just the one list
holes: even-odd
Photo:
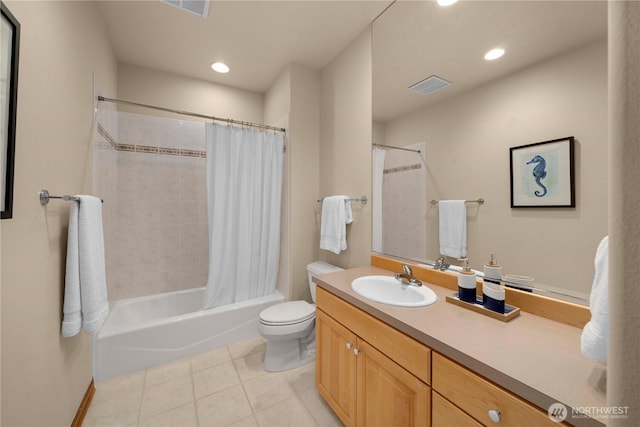
[[212, 308], [275, 290], [284, 134], [210, 123], [206, 140]]

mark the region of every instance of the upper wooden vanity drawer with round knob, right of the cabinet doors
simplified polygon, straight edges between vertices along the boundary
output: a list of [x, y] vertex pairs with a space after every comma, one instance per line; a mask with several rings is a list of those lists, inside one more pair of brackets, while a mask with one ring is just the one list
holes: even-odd
[[502, 426], [557, 426], [546, 411], [474, 374], [470, 370], [433, 354], [433, 389], [485, 425], [493, 425], [490, 410], [500, 411]]

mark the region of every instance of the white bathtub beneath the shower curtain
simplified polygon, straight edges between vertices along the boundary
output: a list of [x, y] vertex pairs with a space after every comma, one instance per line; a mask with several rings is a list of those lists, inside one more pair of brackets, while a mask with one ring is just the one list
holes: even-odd
[[96, 382], [257, 337], [271, 295], [202, 310], [205, 288], [118, 301], [93, 339]]

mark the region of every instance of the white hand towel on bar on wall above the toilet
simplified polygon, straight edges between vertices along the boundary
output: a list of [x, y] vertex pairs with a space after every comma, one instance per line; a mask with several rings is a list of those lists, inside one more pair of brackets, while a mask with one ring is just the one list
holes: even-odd
[[322, 200], [320, 249], [339, 254], [347, 249], [347, 224], [353, 222], [348, 196], [330, 196]]

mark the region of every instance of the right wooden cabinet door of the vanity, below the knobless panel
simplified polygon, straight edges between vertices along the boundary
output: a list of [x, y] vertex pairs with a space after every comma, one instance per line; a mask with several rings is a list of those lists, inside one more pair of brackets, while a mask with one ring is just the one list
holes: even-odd
[[358, 426], [428, 427], [431, 390], [363, 340], [357, 343]]

